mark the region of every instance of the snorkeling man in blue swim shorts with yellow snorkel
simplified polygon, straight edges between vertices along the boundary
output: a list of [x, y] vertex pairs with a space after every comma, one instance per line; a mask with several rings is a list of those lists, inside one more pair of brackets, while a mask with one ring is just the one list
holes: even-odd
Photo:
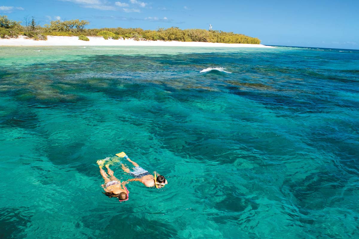
[[154, 172], [154, 176], [151, 175], [147, 170], [144, 170], [136, 162], [130, 160], [130, 158], [126, 155], [126, 153], [121, 152], [121, 153], [117, 153], [116, 155], [118, 157], [126, 158], [129, 162], [131, 162], [135, 166], [134, 168], [132, 168], [133, 171], [130, 171], [128, 167], [126, 167], [124, 164], [121, 164], [123, 171], [134, 176], [134, 179], [129, 179], [127, 181], [129, 182], [140, 181], [146, 187], [156, 187], [156, 188], [162, 188], [168, 183], [167, 180], [164, 178], [164, 176], [162, 175], [157, 176], [156, 172]]

